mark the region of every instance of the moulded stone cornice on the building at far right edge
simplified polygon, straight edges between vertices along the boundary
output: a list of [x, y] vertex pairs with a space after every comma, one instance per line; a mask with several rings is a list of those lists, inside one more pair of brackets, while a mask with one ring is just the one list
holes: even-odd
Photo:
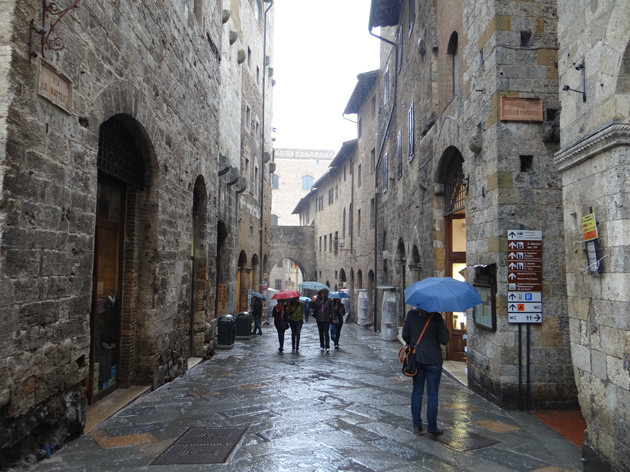
[[630, 123], [612, 120], [554, 154], [560, 171], [617, 146], [630, 146]]

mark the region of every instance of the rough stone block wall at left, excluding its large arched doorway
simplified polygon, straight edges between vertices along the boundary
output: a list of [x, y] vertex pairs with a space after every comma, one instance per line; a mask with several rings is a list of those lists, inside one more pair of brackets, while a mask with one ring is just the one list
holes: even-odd
[[[73, 83], [70, 114], [37, 94], [39, 57], [24, 25], [38, 24], [42, 4], [2, 3], [2, 465], [60, 447], [85, 421], [96, 157], [100, 126], [115, 115], [133, 124], [147, 168], [144, 190], [128, 196], [120, 383], [157, 386], [187, 368], [193, 187], [202, 176], [205, 267], [217, 202], [233, 199], [217, 175], [221, 15], [206, 1], [199, 22], [193, 3], [81, 3], [66, 15], [55, 30], [65, 48], [50, 62]], [[215, 337], [214, 287], [198, 287], [201, 355]]]

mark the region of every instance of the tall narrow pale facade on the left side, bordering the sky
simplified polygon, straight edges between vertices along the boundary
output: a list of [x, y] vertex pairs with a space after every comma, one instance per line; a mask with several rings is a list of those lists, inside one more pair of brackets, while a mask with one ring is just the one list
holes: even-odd
[[[229, 10], [224, 10], [223, 48], [233, 60], [221, 65], [222, 77], [226, 86], [230, 84], [226, 90], [234, 93], [221, 94], [225, 124], [219, 142], [222, 152], [225, 146], [232, 178], [238, 179], [238, 196], [227, 202], [224, 213], [235, 214], [239, 229], [236, 257], [224, 256], [217, 269], [236, 264], [237, 275], [224, 277], [217, 290], [226, 301], [218, 313], [235, 314], [250, 308], [249, 290], [264, 291], [269, 271], [274, 10], [272, 3], [262, 0], [224, 3]], [[236, 308], [231, 304], [234, 299]]]

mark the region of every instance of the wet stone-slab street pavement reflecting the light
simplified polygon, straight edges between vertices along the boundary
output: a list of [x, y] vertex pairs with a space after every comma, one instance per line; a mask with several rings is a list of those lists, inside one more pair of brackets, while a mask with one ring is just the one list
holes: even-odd
[[[473, 433], [496, 444], [462, 452], [471, 438], [448, 446], [414, 435], [412, 383], [400, 373], [397, 342], [345, 325], [340, 349], [324, 353], [311, 319], [299, 353], [287, 330], [281, 354], [273, 325], [263, 333], [219, 350], [29, 470], [582, 470], [580, 450], [558, 433], [446, 375], [438, 414], [445, 436]], [[208, 427], [246, 428], [227, 463], [151, 465], [188, 428]]]

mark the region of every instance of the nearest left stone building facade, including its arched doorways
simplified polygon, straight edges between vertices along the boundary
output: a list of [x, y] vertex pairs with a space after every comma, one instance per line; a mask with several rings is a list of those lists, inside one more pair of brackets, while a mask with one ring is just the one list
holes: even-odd
[[0, 2], [0, 466], [185, 373], [237, 309], [241, 100], [220, 97], [251, 79], [224, 3], [53, 3], [42, 23], [42, 2]]

